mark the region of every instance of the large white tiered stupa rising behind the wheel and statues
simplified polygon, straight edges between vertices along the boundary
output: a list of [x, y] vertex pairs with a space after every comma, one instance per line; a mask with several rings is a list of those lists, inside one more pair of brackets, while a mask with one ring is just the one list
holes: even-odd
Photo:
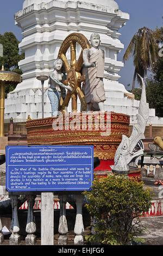
[[[118, 72], [123, 68], [117, 60], [123, 48], [118, 31], [128, 20], [129, 14], [119, 10], [114, 0], [25, 0], [22, 10], [15, 14], [15, 23], [23, 36], [19, 47], [25, 53], [25, 59], [18, 63], [23, 71], [22, 83], [5, 100], [5, 119], [27, 118], [28, 114], [41, 118], [41, 82], [36, 76], [49, 75], [53, 70], [54, 59], [67, 35], [77, 32], [90, 39], [96, 32], [105, 51], [105, 110], [130, 114], [131, 123], [135, 123], [139, 101], [118, 82]], [[50, 117], [47, 81], [44, 87], [44, 117]], [[149, 115], [149, 123], [162, 122], [155, 117], [154, 109], [150, 109]]]

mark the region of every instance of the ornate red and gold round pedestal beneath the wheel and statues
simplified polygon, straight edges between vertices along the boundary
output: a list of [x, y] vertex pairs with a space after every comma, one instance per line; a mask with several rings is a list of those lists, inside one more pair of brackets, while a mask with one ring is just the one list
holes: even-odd
[[[86, 115], [86, 124], [82, 127], [82, 115]], [[89, 118], [88, 113], [77, 113], [77, 115], [63, 115], [58, 117], [29, 120], [27, 126], [27, 142], [29, 145], [51, 144], [51, 145], [93, 145], [94, 156], [99, 160], [114, 160], [115, 152], [122, 141], [122, 135], [128, 136], [129, 115], [111, 112], [111, 134], [101, 136], [102, 130], [96, 130], [99, 123], [97, 112]], [[77, 130], [69, 130], [73, 118], [76, 120]], [[54, 130], [53, 121], [62, 119], [64, 126], [62, 130]], [[105, 113], [105, 125], [108, 119]], [[92, 130], [89, 130], [92, 125]], [[57, 127], [58, 129], [58, 127]], [[85, 129], [85, 130], [83, 130]]]

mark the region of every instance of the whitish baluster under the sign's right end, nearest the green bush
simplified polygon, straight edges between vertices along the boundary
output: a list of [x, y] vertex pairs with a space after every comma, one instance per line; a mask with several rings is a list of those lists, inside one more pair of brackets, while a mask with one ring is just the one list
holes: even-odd
[[76, 223], [74, 225], [74, 233], [76, 234], [76, 236], [74, 237], [74, 245], [84, 245], [84, 239], [82, 236], [82, 234], [84, 233], [82, 215], [84, 196], [83, 194], [76, 194], [74, 195], [74, 198], [77, 205]]

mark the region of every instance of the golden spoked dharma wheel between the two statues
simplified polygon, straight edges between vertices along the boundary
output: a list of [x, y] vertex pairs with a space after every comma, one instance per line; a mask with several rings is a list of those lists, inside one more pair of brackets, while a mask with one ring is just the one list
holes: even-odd
[[[77, 59], [76, 44], [79, 44], [82, 48], [79, 58]], [[70, 63], [67, 60], [66, 53], [70, 48], [71, 60]], [[58, 58], [62, 60], [64, 68], [67, 73], [67, 78], [63, 82], [66, 86], [72, 88], [67, 91], [66, 97], [62, 105], [60, 106], [61, 111], [64, 111], [65, 107], [68, 106], [70, 99], [72, 99], [72, 112], [77, 111], [77, 97], [82, 104], [83, 111], [86, 111], [86, 101], [85, 96], [81, 89], [81, 83], [85, 81], [85, 76], [82, 76], [82, 66], [83, 66], [83, 50], [85, 48], [91, 48], [89, 41], [83, 34], [72, 33], [68, 35], [65, 40], [62, 42]]]

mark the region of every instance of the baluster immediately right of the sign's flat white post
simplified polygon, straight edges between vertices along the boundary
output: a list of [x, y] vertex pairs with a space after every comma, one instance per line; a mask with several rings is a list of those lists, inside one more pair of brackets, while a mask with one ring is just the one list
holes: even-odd
[[66, 236], [68, 232], [67, 221], [66, 221], [66, 202], [67, 196], [59, 196], [60, 199], [60, 218], [59, 218], [59, 227], [58, 232], [60, 234], [58, 239], [58, 245], [67, 245], [68, 238]]

